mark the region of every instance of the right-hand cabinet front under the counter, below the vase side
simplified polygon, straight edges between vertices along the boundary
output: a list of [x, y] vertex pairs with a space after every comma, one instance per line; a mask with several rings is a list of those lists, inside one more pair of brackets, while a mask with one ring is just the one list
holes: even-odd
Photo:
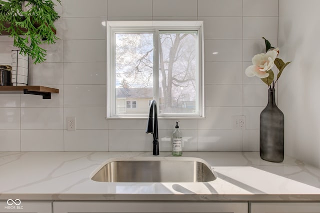
[[251, 213], [320, 213], [320, 203], [251, 203]]

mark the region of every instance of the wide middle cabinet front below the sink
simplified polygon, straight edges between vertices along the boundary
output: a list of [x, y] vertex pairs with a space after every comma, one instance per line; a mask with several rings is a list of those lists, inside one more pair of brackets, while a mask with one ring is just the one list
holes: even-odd
[[53, 213], [247, 213], [243, 203], [213, 202], [54, 202]]

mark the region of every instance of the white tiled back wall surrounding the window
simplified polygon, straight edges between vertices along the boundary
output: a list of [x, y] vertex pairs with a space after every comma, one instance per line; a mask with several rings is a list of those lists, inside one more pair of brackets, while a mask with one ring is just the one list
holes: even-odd
[[[267, 87], [243, 73], [263, 52], [262, 36], [277, 45], [278, 0], [63, 0], [56, 22], [61, 40], [47, 61], [30, 64], [30, 84], [59, 89], [51, 100], [0, 94], [0, 151], [151, 151], [146, 120], [105, 120], [103, 20], [204, 20], [205, 119], [180, 119], [185, 151], [258, 151], [259, 113]], [[0, 36], [0, 62], [12, 40]], [[213, 55], [212, 52], [219, 52]], [[232, 130], [231, 116], [246, 116]], [[75, 132], [66, 117], [76, 117]], [[169, 151], [175, 119], [159, 121], [160, 151]]]

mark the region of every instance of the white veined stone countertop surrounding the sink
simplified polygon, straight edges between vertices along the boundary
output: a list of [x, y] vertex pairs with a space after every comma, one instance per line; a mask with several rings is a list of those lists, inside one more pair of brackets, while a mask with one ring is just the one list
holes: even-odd
[[218, 178], [206, 183], [90, 180], [102, 163], [118, 157], [152, 157], [152, 153], [2, 152], [0, 200], [320, 201], [320, 170], [287, 156], [282, 163], [263, 161], [258, 152], [183, 152], [177, 157], [201, 158], [211, 165]]

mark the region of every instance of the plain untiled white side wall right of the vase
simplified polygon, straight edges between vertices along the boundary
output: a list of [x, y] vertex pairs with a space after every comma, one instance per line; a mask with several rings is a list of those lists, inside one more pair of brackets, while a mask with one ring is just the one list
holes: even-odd
[[278, 85], [285, 153], [320, 167], [319, 0], [279, 0], [280, 56], [292, 63]]

